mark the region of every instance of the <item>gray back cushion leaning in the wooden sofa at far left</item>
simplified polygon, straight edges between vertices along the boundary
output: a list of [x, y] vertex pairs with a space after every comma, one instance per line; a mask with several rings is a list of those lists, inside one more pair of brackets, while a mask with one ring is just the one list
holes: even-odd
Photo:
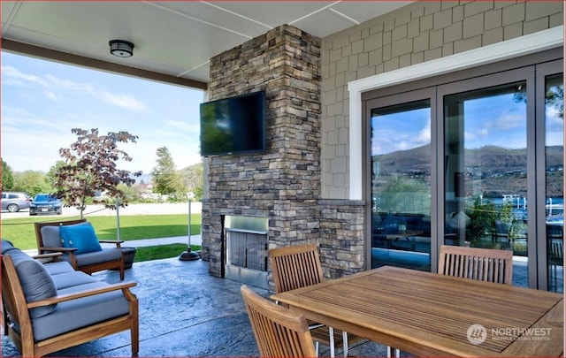
[[[55, 282], [42, 263], [20, 251], [19, 248], [11, 249], [5, 255], [10, 255], [16, 267], [19, 283], [27, 302], [41, 301], [57, 295]], [[32, 308], [29, 310], [29, 316], [37, 318], [49, 315], [55, 307], [56, 305]]]

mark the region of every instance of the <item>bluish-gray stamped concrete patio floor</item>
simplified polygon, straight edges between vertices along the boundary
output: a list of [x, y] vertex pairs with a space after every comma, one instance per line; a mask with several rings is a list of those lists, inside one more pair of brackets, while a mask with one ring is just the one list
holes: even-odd
[[[140, 303], [140, 357], [258, 355], [241, 300], [241, 283], [214, 278], [208, 270], [207, 262], [177, 258], [134, 263], [126, 270], [126, 280], [138, 284], [133, 292]], [[93, 277], [119, 282], [118, 271], [103, 271]], [[264, 297], [270, 295], [264, 289], [254, 289]], [[321, 346], [320, 355], [329, 355], [327, 347]], [[350, 347], [348, 355], [386, 356], [386, 347], [362, 341]], [[21, 356], [4, 334], [2, 356]], [[49, 356], [131, 356], [130, 333], [96, 339]]]

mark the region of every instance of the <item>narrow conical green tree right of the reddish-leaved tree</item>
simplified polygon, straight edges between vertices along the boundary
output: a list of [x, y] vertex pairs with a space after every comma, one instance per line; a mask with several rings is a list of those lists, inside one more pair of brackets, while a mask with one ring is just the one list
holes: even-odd
[[151, 177], [155, 184], [154, 191], [159, 194], [168, 195], [186, 192], [183, 180], [167, 147], [157, 149], [157, 165], [151, 171]]

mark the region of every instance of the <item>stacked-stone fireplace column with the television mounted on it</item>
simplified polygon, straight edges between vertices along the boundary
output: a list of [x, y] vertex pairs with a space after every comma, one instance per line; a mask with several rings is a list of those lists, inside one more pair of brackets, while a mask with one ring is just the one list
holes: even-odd
[[265, 153], [205, 159], [202, 257], [211, 275], [249, 269], [233, 264], [249, 257], [228, 246], [253, 252], [256, 238], [234, 244], [233, 217], [264, 218], [268, 249], [318, 243], [327, 277], [363, 268], [363, 202], [320, 200], [320, 83], [320, 40], [287, 25], [210, 59], [210, 100], [265, 90], [268, 122]]

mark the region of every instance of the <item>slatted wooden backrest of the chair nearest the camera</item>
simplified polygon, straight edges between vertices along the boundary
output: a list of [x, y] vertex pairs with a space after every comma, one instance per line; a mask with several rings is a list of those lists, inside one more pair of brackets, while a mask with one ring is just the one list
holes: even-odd
[[248, 286], [241, 286], [241, 295], [260, 356], [317, 356], [304, 316], [265, 300]]

